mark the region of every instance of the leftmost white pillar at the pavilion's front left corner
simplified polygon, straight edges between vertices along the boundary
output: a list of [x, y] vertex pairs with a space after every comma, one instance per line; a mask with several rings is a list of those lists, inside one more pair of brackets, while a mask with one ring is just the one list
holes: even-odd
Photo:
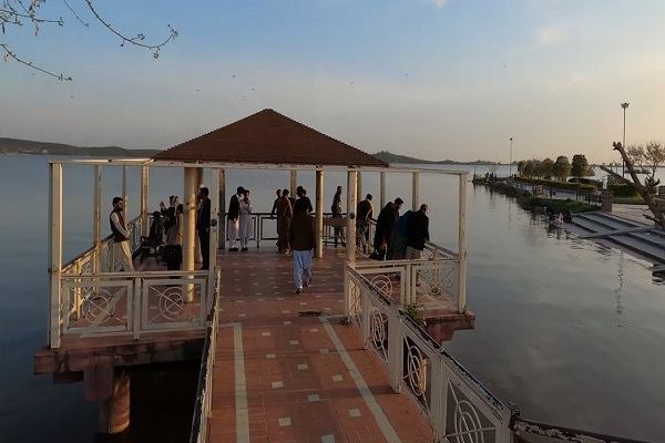
[[49, 165], [49, 330], [48, 343], [60, 347], [60, 272], [62, 270], [62, 165]]

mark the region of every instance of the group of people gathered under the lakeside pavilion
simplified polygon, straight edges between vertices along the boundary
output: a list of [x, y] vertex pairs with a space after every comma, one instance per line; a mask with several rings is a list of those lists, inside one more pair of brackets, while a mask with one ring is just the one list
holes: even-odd
[[[334, 218], [342, 217], [341, 193], [344, 188], [338, 186], [332, 198], [331, 212]], [[315, 220], [311, 216], [311, 200], [307, 197], [307, 190], [303, 186], [296, 188], [297, 198], [289, 196], [288, 189], [277, 189], [277, 198], [273, 205], [270, 216], [277, 217], [277, 249], [280, 254], [289, 250], [294, 256], [294, 284], [296, 293], [300, 293], [311, 279], [311, 259], [316, 247]], [[207, 187], [202, 187], [197, 195], [196, 231], [201, 246], [203, 265], [201, 269], [209, 267], [209, 229], [211, 229], [211, 200]], [[236, 193], [231, 197], [228, 205], [228, 250], [245, 253], [248, 250], [248, 241], [252, 237], [252, 213], [253, 205], [249, 198], [249, 189], [238, 186]], [[369, 251], [369, 226], [374, 216], [372, 196], [367, 194], [365, 199], [357, 205], [356, 243], [365, 254]], [[419, 210], [408, 210], [399, 214], [403, 200], [396, 198], [389, 202], [379, 213], [375, 236], [372, 239], [374, 251], [370, 258], [385, 259], [418, 259], [422, 257], [426, 241], [429, 240], [428, 205], [421, 205]], [[110, 215], [111, 230], [113, 233], [114, 255], [122, 264], [125, 271], [133, 271], [132, 255], [129, 246], [129, 231], [123, 217], [124, 200], [121, 197], [113, 198], [113, 210]], [[182, 266], [182, 244], [184, 210], [178, 197], [172, 195], [168, 198], [168, 207], [160, 202], [160, 212], [154, 213], [154, 219], [163, 217], [163, 233], [151, 227], [151, 236], [162, 238], [165, 235], [164, 261], [170, 270], [180, 269]], [[241, 249], [236, 247], [239, 238]], [[344, 228], [335, 227], [335, 246], [346, 246]]]

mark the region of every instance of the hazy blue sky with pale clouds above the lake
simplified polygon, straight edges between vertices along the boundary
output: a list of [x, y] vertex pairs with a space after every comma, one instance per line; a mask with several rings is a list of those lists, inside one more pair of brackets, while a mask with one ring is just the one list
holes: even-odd
[[52, 0], [64, 28], [0, 34], [74, 79], [0, 63], [0, 136], [167, 148], [272, 107], [370, 153], [610, 162], [630, 102], [627, 143], [665, 140], [663, 0], [95, 2], [150, 41], [172, 24], [158, 60], [69, 3], [90, 28]]

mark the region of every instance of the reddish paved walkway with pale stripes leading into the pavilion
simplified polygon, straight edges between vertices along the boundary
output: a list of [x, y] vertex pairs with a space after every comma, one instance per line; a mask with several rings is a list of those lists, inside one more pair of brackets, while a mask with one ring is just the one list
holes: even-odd
[[[431, 442], [344, 312], [342, 248], [295, 295], [291, 256], [225, 253], [211, 442]], [[320, 317], [311, 312], [320, 312]]]

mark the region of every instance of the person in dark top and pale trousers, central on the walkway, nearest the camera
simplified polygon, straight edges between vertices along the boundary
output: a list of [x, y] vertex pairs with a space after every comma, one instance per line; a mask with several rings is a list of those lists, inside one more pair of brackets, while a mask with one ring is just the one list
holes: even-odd
[[307, 212], [307, 202], [299, 198], [295, 205], [294, 219], [289, 230], [289, 243], [294, 251], [294, 285], [296, 293], [309, 285], [311, 278], [311, 257], [316, 245], [314, 218]]

